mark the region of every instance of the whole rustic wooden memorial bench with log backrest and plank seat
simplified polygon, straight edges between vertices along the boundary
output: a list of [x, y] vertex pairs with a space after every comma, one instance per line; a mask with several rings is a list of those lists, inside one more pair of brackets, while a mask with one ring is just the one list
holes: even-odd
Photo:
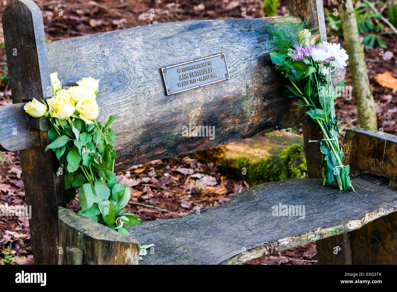
[[[291, 0], [289, 11], [319, 26], [326, 39], [322, 1]], [[397, 137], [349, 129], [343, 163], [366, 197], [323, 186], [319, 147], [307, 142], [320, 138], [318, 130], [303, 108], [281, 97], [270, 62], [268, 29], [279, 21], [183, 21], [46, 43], [36, 4], [12, 0], [3, 28], [13, 104], [0, 108], [0, 145], [19, 150], [35, 263], [136, 264], [140, 244], [155, 244], [145, 264], [244, 263], [313, 241], [319, 263], [397, 263]], [[229, 79], [166, 95], [159, 68], [221, 52]], [[99, 121], [118, 116], [112, 126], [116, 171], [303, 123], [310, 179], [254, 186], [223, 205], [131, 226], [123, 236], [64, 208], [56, 159], [44, 152], [46, 120], [23, 111], [26, 101], [47, 97], [51, 72], [64, 85], [83, 76], [100, 79]], [[181, 129], [189, 124], [215, 126], [215, 139], [184, 137]], [[275, 215], [283, 205], [304, 207], [304, 213]], [[82, 260], [71, 246], [83, 250]]]

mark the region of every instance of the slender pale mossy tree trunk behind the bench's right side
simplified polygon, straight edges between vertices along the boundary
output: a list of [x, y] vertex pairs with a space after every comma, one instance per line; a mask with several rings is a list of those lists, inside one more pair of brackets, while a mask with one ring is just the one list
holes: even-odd
[[377, 130], [375, 102], [368, 80], [364, 52], [358, 40], [357, 19], [352, 0], [345, 0], [339, 4], [339, 12], [346, 51], [349, 55], [349, 69], [357, 105], [358, 127]]

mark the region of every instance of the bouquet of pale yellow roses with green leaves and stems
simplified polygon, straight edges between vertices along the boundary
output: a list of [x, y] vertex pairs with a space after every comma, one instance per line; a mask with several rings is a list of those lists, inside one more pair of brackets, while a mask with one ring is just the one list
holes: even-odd
[[57, 72], [50, 74], [52, 97], [44, 102], [28, 102], [24, 110], [35, 118], [46, 116], [51, 128], [50, 144], [60, 162], [57, 175], [63, 174], [66, 201], [79, 190], [81, 210], [88, 217], [128, 236], [124, 225], [142, 224], [138, 216], [123, 213], [130, 199], [130, 190], [118, 184], [114, 175], [116, 151], [115, 134], [106, 124], [96, 122], [99, 106], [96, 103], [99, 79], [92, 77], [77, 81], [77, 86], [62, 89]]

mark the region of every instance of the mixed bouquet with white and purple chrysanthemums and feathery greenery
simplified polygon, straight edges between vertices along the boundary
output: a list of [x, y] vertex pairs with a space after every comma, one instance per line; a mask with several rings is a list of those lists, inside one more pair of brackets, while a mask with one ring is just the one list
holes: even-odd
[[287, 78], [283, 95], [300, 98], [303, 102], [294, 102], [308, 108], [306, 113], [322, 132], [322, 140], [314, 142], [321, 145], [324, 184], [336, 181], [340, 190], [351, 187], [354, 191], [349, 165], [341, 161], [343, 152], [338, 142], [334, 108], [334, 99], [340, 96], [345, 80], [335, 87], [331, 84], [335, 68], [344, 68], [349, 56], [340, 44], [320, 43], [320, 35], [313, 35], [305, 26], [304, 23], [286, 22], [269, 31], [274, 45], [270, 58], [276, 70]]

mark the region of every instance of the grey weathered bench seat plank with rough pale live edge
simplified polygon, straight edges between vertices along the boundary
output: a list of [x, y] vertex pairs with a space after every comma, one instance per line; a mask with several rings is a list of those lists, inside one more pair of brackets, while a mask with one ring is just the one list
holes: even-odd
[[[185, 217], [129, 228], [141, 245], [155, 244], [143, 264], [238, 264], [355, 230], [397, 210], [397, 190], [374, 177], [353, 179], [353, 191], [318, 179], [254, 186], [229, 202]], [[305, 217], [273, 216], [272, 206], [304, 205]], [[303, 217], [302, 217], [303, 218]]]

